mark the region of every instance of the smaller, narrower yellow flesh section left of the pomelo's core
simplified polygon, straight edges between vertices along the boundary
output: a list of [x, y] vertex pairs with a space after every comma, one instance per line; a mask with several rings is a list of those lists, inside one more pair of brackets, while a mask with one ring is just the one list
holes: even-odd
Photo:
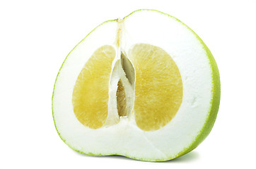
[[78, 75], [72, 97], [76, 118], [87, 127], [97, 129], [107, 118], [108, 84], [115, 58], [112, 46], [102, 46]]

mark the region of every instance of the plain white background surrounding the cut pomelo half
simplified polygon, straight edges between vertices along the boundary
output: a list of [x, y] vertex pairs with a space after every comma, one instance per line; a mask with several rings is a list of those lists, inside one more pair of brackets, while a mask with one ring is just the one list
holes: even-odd
[[[206, 43], [221, 75], [213, 130], [164, 163], [76, 153], [52, 120], [64, 58], [94, 27], [140, 8], [175, 16]], [[0, 168], [256, 168], [255, 1], [0, 1]]]

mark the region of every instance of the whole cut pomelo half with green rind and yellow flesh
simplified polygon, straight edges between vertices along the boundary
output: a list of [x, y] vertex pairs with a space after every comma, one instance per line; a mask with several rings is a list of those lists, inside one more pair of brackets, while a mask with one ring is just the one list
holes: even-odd
[[214, 125], [219, 70], [180, 20], [134, 11], [95, 28], [66, 57], [52, 96], [55, 127], [82, 154], [168, 161]]

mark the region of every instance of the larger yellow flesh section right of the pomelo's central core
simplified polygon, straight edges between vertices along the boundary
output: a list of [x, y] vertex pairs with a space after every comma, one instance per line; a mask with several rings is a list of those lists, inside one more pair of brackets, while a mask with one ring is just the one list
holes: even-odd
[[136, 71], [136, 124], [141, 130], [158, 130], [173, 119], [182, 103], [180, 71], [163, 49], [150, 44], [136, 44], [129, 58]]

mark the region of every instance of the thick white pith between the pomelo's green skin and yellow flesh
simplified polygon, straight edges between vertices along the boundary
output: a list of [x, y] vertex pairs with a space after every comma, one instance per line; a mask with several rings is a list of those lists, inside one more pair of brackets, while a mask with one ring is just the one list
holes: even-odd
[[[145, 160], [175, 157], [193, 142], [209, 112], [212, 87], [209, 59], [191, 30], [168, 15], [138, 11], [125, 18], [123, 24], [120, 43], [123, 51], [128, 52], [138, 43], [160, 46], [178, 65], [183, 82], [183, 101], [175, 118], [165, 127], [152, 132], [140, 130], [129, 118], [98, 130], [85, 127], [76, 119], [71, 96], [84, 63], [98, 47], [105, 44], [115, 47], [119, 55], [116, 45], [119, 25], [111, 21], [100, 25], [78, 44], [59, 72], [53, 96], [57, 130], [66, 144], [85, 154], [120, 154]], [[117, 89], [120, 77], [112, 72], [112, 78]], [[116, 92], [115, 87], [110, 89], [113, 89], [110, 93]], [[110, 96], [115, 97], [115, 94]]]

